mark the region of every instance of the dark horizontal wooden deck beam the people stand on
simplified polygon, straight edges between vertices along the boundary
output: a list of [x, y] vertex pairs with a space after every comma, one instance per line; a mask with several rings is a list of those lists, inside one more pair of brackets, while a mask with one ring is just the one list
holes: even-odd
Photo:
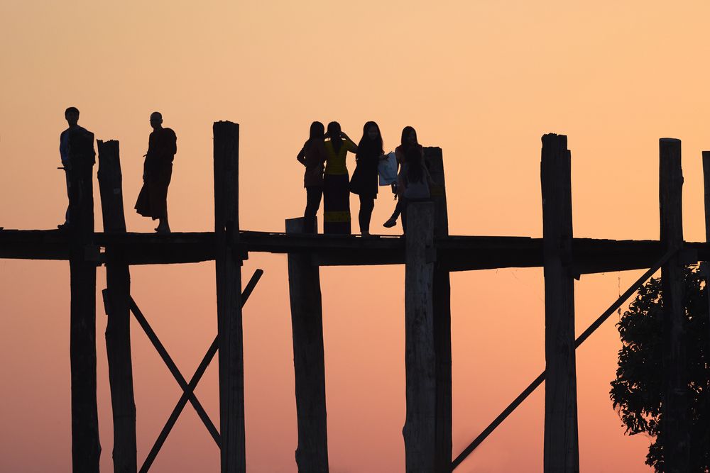
[[[129, 265], [168, 265], [214, 260], [214, 233], [96, 233], [100, 247], [120, 247]], [[242, 231], [246, 252], [310, 253], [314, 265], [361, 266], [404, 263], [403, 236], [286, 235]], [[69, 235], [60, 230], [0, 230], [0, 258], [67, 260]], [[710, 260], [710, 244], [684, 243], [687, 263]], [[94, 249], [95, 250], [95, 249]], [[90, 258], [91, 248], [87, 248]], [[574, 238], [572, 268], [577, 275], [646, 269], [663, 248], [658, 240]], [[697, 256], [696, 256], [697, 255]], [[542, 238], [447, 236], [436, 239], [437, 261], [449, 271], [542, 267]]]

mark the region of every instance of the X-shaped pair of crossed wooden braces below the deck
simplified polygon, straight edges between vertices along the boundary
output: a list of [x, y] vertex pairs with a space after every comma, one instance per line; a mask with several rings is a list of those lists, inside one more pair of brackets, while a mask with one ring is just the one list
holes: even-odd
[[[251, 279], [249, 279], [249, 284], [246, 284], [244, 291], [242, 291], [241, 293], [242, 307], [244, 307], [244, 304], [246, 304], [246, 301], [249, 299], [249, 296], [251, 296], [251, 292], [254, 290], [254, 287], [256, 287], [256, 283], [259, 282], [259, 279], [261, 279], [262, 274], [264, 274], [263, 269], [256, 269], [254, 274], [251, 276]], [[151, 452], [148, 453], [146, 461], [143, 462], [143, 466], [140, 469], [140, 472], [143, 473], [147, 472], [148, 469], [150, 469], [151, 464], [153, 464], [153, 461], [155, 460], [155, 457], [158, 455], [158, 452], [160, 452], [160, 448], [163, 447], [165, 439], [168, 438], [170, 430], [173, 430], [175, 422], [178, 421], [178, 417], [180, 417], [180, 413], [182, 413], [182, 409], [185, 408], [187, 401], [190, 401], [192, 407], [195, 408], [195, 411], [197, 411], [197, 416], [200, 416], [200, 419], [202, 419], [202, 423], [204, 423], [204, 426], [207, 427], [209, 434], [212, 435], [214, 442], [217, 443], [217, 447], [219, 447], [219, 431], [214, 426], [212, 420], [210, 420], [209, 416], [207, 415], [207, 412], [204, 411], [202, 404], [200, 404], [200, 401], [198, 401], [197, 397], [195, 396], [195, 387], [197, 387], [197, 383], [200, 382], [200, 379], [202, 379], [202, 375], [204, 374], [205, 370], [207, 370], [209, 363], [212, 362], [212, 358], [214, 358], [214, 355], [217, 354], [218, 338], [215, 337], [214, 341], [212, 342], [212, 345], [209, 345], [209, 349], [207, 350], [207, 353], [204, 354], [202, 362], [200, 362], [200, 366], [197, 367], [197, 370], [195, 370], [195, 374], [192, 375], [190, 383], [187, 383], [187, 381], [185, 381], [185, 378], [182, 377], [180, 370], [175, 365], [175, 362], [173, 362], [173, 359], [168, 354], [168, 350], [165, 350], [163, 343], [160, 343], [158, 335], [155, 335], [153, 328], [151, 328], [151, 325], [146, 320], [146, 317], [143, 316], [141, 309], [138, 308], [138, 306], [136, 305], [136, 301], [133, 301], [132, 297], [131, 312], [133, 312], [133, 316], [136, 317], [136, 321], [138, 321], [138, 323], [141, 325], [143, 331], [146, 332], [146, 335], [148, 335], [148, 339], [151, 340], [151, 343], [153, 343], [155, 350], [158, 351], [158, 355], [163, 358], [163, 362], [165, 362], [165, 365], [168, 366], [168, 369], [170, 369], [170, 372], [173, 374], [173, 377], [175, 377], [175, 380], [180, 385], [180, 388], [182, 388], [182, 396], [180, 396], [180, 401], [178, 401], [178, 404], [175, 405], [173, 413], [170, 414], [168, 421], [165, 423], [165, 427], [163, 427], [163, 430], [160, 432], [160, 435], [158, 435], [158, 440], [155, 440], [155, 444], [153, 444]]]

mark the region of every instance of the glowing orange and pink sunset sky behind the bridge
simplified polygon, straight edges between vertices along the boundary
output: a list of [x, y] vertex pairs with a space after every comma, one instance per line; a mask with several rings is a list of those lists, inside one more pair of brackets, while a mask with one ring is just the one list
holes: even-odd
[[[66, 208], [59, 133], [67, 106], [98, 139], [121, 142], [129, 230], [148, 116], [178, 134], [170, 223], [211, 230], [212, 122], [241, 124], [241, 228], [283, 230], [305, 205], [295, 155], [313, 120], [365, 121], [392, 150], [405, 125], [444, 150], [450, 233], [542, 233], [540, 136], [572, 150], [576, 236], [658, 238], [658, 138], [683, 141], [687, 240], [704, 239], [701, 150], [710, 70], [706, 1], [423, 2], [5, 1], [0, 4], [0, 226], [53, 228]], [[349, 161], [354, 169], [354, 160]], [[97, 195], [97, 193], [96, 193]], [[97, 229], [100, 208], [97, 201]], [[352, 208], [358, 204], [352, 199]], [[393, 208], [376, 201], [373, 230]], [[293, 352], [283, 256], [244, 310], [247, 464], [293, 472]], [[97, 291], [105, 286], [98, 272]], [[575, 283], [577, 333], [638, 272]], [[190, 377], [216, 330], [214, 264], [134, 267], [132, 294]], [[0, 469], [70, 468], [69, 269], [0, 260]], [[403, 267], [321, 270], [333, 473], [401, 471]], [[363, 296], [364, 294], [364, 296]], [[452, 274], [454, 455], [544, 367], [542, 270]], [[102, 471], [111, 471], [110, 396], [97, 297]], [[608, 400], [613, 317], [577, 355], [581, 469], [647, 472], [648, 439], [623, 435]], [[180, 390], [133, 324], [138, 458]], [[217, 422], [216, 363], [197, 389]], [[457, 472], [542, 469], [542, 389]], [[156, 472], [217, 471], [217, 447], [185, 409]]]

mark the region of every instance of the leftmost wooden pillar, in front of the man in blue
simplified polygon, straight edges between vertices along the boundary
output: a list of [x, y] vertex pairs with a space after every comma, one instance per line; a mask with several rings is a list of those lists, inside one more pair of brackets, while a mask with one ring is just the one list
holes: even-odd
[[[82, 143], [87, 145], [87, 143]], [[91, 137], [92, 152], [94, 138]], [[96, 400], [96, 266], [93, 167], [76, 163], [70, 234], [70, 360], [72, 372], [72, 469], [98, 472], [101, 444]]]

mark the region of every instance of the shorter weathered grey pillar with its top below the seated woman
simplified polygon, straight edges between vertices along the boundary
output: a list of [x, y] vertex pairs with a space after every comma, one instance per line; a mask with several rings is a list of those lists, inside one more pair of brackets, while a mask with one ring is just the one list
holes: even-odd
[[408, 205], [405, 243], [405, 370], [403, 428], [408, 473], [435, 471], [437, 357], [434, 342], [434, 204]]

